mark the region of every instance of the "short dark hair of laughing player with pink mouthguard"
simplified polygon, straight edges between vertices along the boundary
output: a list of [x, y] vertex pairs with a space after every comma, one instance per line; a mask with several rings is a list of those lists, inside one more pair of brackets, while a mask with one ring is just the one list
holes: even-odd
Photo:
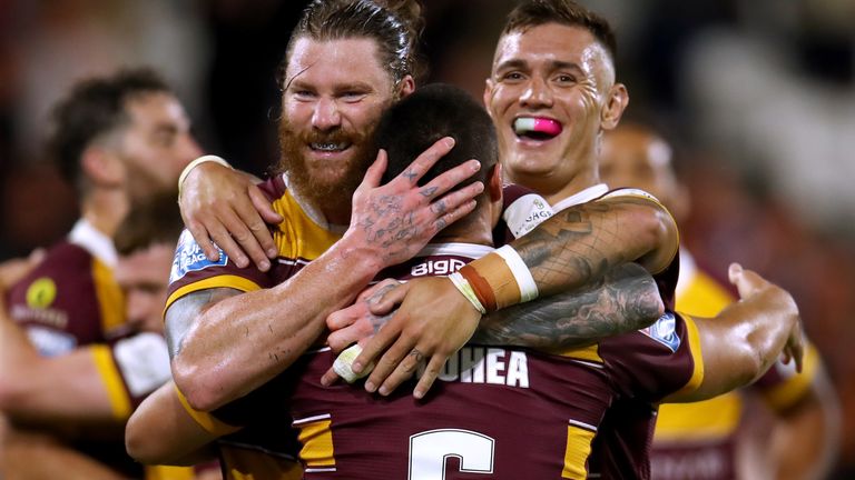
[[609, 21], [572, 0], [523, 0], [508, 14], [502, 36], [547, 23], [588, 30], [606, 47], [612, 62], [615, 61], [618, 41]]

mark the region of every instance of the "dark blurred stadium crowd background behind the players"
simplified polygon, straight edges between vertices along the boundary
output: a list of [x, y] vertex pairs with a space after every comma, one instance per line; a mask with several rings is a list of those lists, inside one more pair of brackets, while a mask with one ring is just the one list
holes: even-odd
[[[512, 0], [425, 0], [425, 81], [481, 97]], [[628, 117], [674, 143], [684, 241], [721, 278], [787, 288], [844, 406], [835, 478], [855, 478], [855, 1], [589, 0], [619, 36]], [[149, 64], [205, 149], [265, 176], [275, 81], [303, 0], [0, 0], [0, 259], [76, 219], [43, 158], [51, 104], [81, 77]]]

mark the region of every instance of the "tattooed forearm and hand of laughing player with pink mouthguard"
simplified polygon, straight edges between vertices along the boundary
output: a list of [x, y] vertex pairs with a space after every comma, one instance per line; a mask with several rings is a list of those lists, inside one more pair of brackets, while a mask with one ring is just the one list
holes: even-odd
[[[511, 246], [543, 298], [581, 288], [629, 262], [658, 273], [677, 253], [678, 243], [677, 227], [661, 204], [622, 194], [564, 209]], [[482, 258], [470, 264], [476, 267], [483, 261], [494, 259]], [[402, 302], [411, 296], [419, 301], [406, 302], [405, 308]], [[412, 376], [414, 358], [428, 358], [414, 392], [421, 397], [445, 360], [474, 333], [481, 314], [448, 279], [410, 282], [389, 297], [402, 307], [367, 342], [353, 369], [361, 372], [364, 366], [376, 363], [365, 388], [387, 393]]]

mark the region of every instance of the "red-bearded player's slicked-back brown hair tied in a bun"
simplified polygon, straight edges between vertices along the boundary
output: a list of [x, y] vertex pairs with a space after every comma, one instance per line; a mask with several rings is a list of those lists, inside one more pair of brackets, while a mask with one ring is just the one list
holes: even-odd
[[303, 10], [279, 66], [281, 80], [296, 40], [316, 41], [367, 38], [377, 43], [380, 62], [400, 82], [407, 74], [422, 76], [417, 42], [424, 28], [416, 0], [313, 0]]

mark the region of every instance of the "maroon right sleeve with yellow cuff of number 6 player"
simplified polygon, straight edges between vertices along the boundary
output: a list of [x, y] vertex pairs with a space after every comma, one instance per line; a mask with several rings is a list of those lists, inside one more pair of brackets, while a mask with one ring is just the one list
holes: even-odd
[[600, 354], [625, 397], [657, 403], [704, 380], [700, 337], [686, 314], [668, 311], [646, 329], [607, 339]]

